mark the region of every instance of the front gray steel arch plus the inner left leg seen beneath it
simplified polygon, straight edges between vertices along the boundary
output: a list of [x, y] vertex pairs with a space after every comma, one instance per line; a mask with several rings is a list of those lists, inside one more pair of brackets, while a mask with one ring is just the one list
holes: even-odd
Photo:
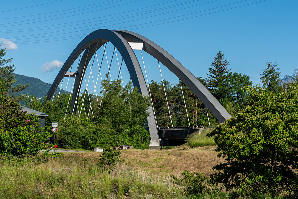
[[[76, 110], [75, 103], [74, 103], [76, 97], [74, 96], [77, 96], [79, 92], [78, 88], [81, 84], [81, 82], [79, 81], [83, 78], [83, 74], [87, 68], [84, 66], [88, 65], [89, 63], [88, 58], [90, 59], [94, 54], [94, 50], [96, 49], [98, 40], [100, 40], [100, 42], [97, 48], [105, 44], [107, 41], [111, 42], [117, 48], [117, 50], [119, 51], [119, 53], [121, 54], [125, 62], [125, 65], [128, 68], [128, 72], [131, 76], [131, 81], [134, 84], [134, 86], [137, 87], [139, 91], [142, 92], [143, 95], [149, 95], [145, 78], [142, 73], [142, 69], [139, 65], [139, 61], [137, 60], [136, 55], [134, 54], [134, 51], [132, 50], [131, 46], [128, 44], [125, 38], [123, 38], [119, 33], [111, 30], [107, 30], [107, 29], [100, 29], [100, 30], [95, 30], [94, 32], [86, 36], [77, 45], [75, 50], [72, 51], [72, 53], [67, 58], [66, 62], [63, 64], [58, 75], [56, 76], [47, 94], [46, 100], [50, 100], [52, 98], [56, 87], [60, 84], [60, 81], [64, 76], [64, 72], [67, 72], [69, 70], [72, 64], [72, 60], [73, 59], [76, 60], [78, 56], [83, 52], [83, 50], [85, 50], [77, 70], [79, 74], [79, 78], [76, 78], [75, 87], [73, 90], [72, 110]], [[89, 46], [90, 46], [90, 49], [88, 51]], [[87, 57], [87, 61], [86, 61], [86, 57]], [[86, 61], [86, 65], [85, 65], [85, 61]], [[148, 128], [149, 128], [150, 138], [151, 138], [150, 145], [159, 146], [159, 137], [157, 133], [157, 126], [155, 123], [155, 115], [153, 114], [152, 107], [150, 107], [148, 111], [151, 113], [150, 116], [148, 117]]]

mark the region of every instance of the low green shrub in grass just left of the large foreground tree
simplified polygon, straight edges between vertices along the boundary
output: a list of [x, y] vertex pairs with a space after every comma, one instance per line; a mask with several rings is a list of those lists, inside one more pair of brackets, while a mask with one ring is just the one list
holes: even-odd
[[203, 176], [202, 173], [184, 170], [181, 175], [181, 179], [172, 175], [173, 183], [182, 186], [187, 192], [192, 194], [201, 193], [206, 188], [204, 183], [208, 178]]

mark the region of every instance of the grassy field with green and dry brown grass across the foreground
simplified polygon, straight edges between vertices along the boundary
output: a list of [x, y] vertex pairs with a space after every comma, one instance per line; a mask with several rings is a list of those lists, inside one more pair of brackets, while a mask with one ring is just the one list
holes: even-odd
[[[209, 176], [224, 162], [216, 146], [168, 150], [121, 150], [122, 163], [101, 168], [102, 152], [65, 152], [46, 163], [0, 160], [0, 198], [273, 198], [270, 195], [232, 196], [207, 184], [200, 194], [173, 183], [183, 170]], [[283, 197], [275, 197], [283, 198]]]

